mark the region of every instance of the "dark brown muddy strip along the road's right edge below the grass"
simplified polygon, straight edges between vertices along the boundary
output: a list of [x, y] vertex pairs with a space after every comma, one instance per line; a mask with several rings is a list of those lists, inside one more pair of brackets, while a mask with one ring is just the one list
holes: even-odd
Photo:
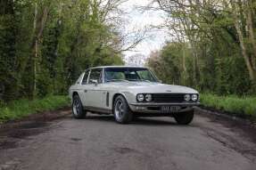
[[256, 149], [253, 144], [256, 143], [256, 125], [252, 121], [202, 108], [196, 108], [195, 113], [207, 117], [210, 122], [223, 125], [231, 131], [231, 134], [227, 134], [225, 131], [219, 130], [218, 127], [202, 126], [201, 129], [205, 135], [221, 143], [224, 147], [242, 154], [252, 162], [256, 162]]

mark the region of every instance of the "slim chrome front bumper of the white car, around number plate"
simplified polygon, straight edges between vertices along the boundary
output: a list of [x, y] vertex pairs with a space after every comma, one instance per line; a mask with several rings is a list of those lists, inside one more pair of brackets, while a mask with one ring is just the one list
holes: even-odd
[[186, 112], [194, 109], [194, 106], [199, 106], [200, 102], [179, 102], [179, 103], [129, 103], [129, 108], [135, 113], [145, 114], [172, 114], [174, 112], [162, 112], [162, 106], [178, 106], [180, 109], [175, 112]]

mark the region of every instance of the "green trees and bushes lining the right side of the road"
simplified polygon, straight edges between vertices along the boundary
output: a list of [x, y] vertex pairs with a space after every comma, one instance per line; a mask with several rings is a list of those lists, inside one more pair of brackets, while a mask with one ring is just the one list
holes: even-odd
[[156, 1], [174, 36], [148, 66], [166, 83], [218, 94], [256, 93], [256, 12], [250, 0]]

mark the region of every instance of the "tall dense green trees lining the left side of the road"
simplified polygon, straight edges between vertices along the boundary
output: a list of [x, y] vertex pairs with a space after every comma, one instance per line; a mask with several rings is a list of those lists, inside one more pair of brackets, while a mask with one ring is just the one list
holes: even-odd
[[0, 101], [64, 94], [88, 67], [121, 65], [120, 0], [0, 1]]

